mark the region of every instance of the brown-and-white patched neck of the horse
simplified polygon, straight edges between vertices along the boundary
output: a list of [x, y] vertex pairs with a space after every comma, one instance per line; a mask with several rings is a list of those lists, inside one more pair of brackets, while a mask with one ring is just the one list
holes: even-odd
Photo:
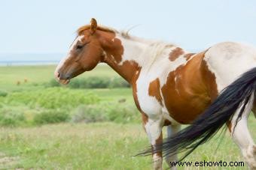
[[133, 77], [141, 69], [143, 60], [147, 59], [143, 53], [148, 49], [148, 43], [132, 40], [120, 34], [116, 34], [109, 43], [111, 45], [108, 48], [103, 48], [105, 51], [103, 62], [131, 84]]

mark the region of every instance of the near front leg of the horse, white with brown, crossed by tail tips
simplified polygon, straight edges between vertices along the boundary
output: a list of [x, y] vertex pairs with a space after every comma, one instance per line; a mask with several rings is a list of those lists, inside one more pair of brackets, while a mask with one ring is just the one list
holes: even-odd
[[[163, 127], [163, 120], [157, 119], [152, 120], [147, 117], [147, 121], [145, 121], [145, 114], [142, 114], [143, 119], [143, 125], [145, 127], [145, 131], [148, 135], [148, 139], [151, 142], [151, 147], [155, 147], [154, 145], [160, 144], [163, 142], [163, 135], [162, 135], [162, 127]], [[155, 170], [162, 169], [163, 164], [163, 157], [162, 157], [162, 151], [157, 151], [155, 153], [152, 153], [153, 157], [153, 166]]]

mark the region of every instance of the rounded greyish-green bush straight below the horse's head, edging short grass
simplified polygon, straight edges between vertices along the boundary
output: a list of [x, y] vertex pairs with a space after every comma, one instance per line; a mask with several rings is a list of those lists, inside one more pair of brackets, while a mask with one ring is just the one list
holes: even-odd
[[75, 109], [72, 115], [72, 122], [74, 123], [90, 123], [97, 121], [107, 121], [104, 111], [99, 106], [81, 105]]

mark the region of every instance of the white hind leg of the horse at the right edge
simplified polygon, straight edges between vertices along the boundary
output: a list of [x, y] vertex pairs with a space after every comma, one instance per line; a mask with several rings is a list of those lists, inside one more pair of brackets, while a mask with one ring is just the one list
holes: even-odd
[[254, 141], [251, 138], [251, 134], [249, 133], [247, 127], [248, 115], [251, 112], [252, 105], [252, 102], [247, 104], [244, 113], [242, 114], [241, 120], [236, 124], [236, 118], [240, 110], [238, 109], [228, 127], [233, 141], [236, 142], [242, 152], [242, 156], [244, 157], [245, 162], [251, 169], [256, 169], [256, 145], [254, 144]]

